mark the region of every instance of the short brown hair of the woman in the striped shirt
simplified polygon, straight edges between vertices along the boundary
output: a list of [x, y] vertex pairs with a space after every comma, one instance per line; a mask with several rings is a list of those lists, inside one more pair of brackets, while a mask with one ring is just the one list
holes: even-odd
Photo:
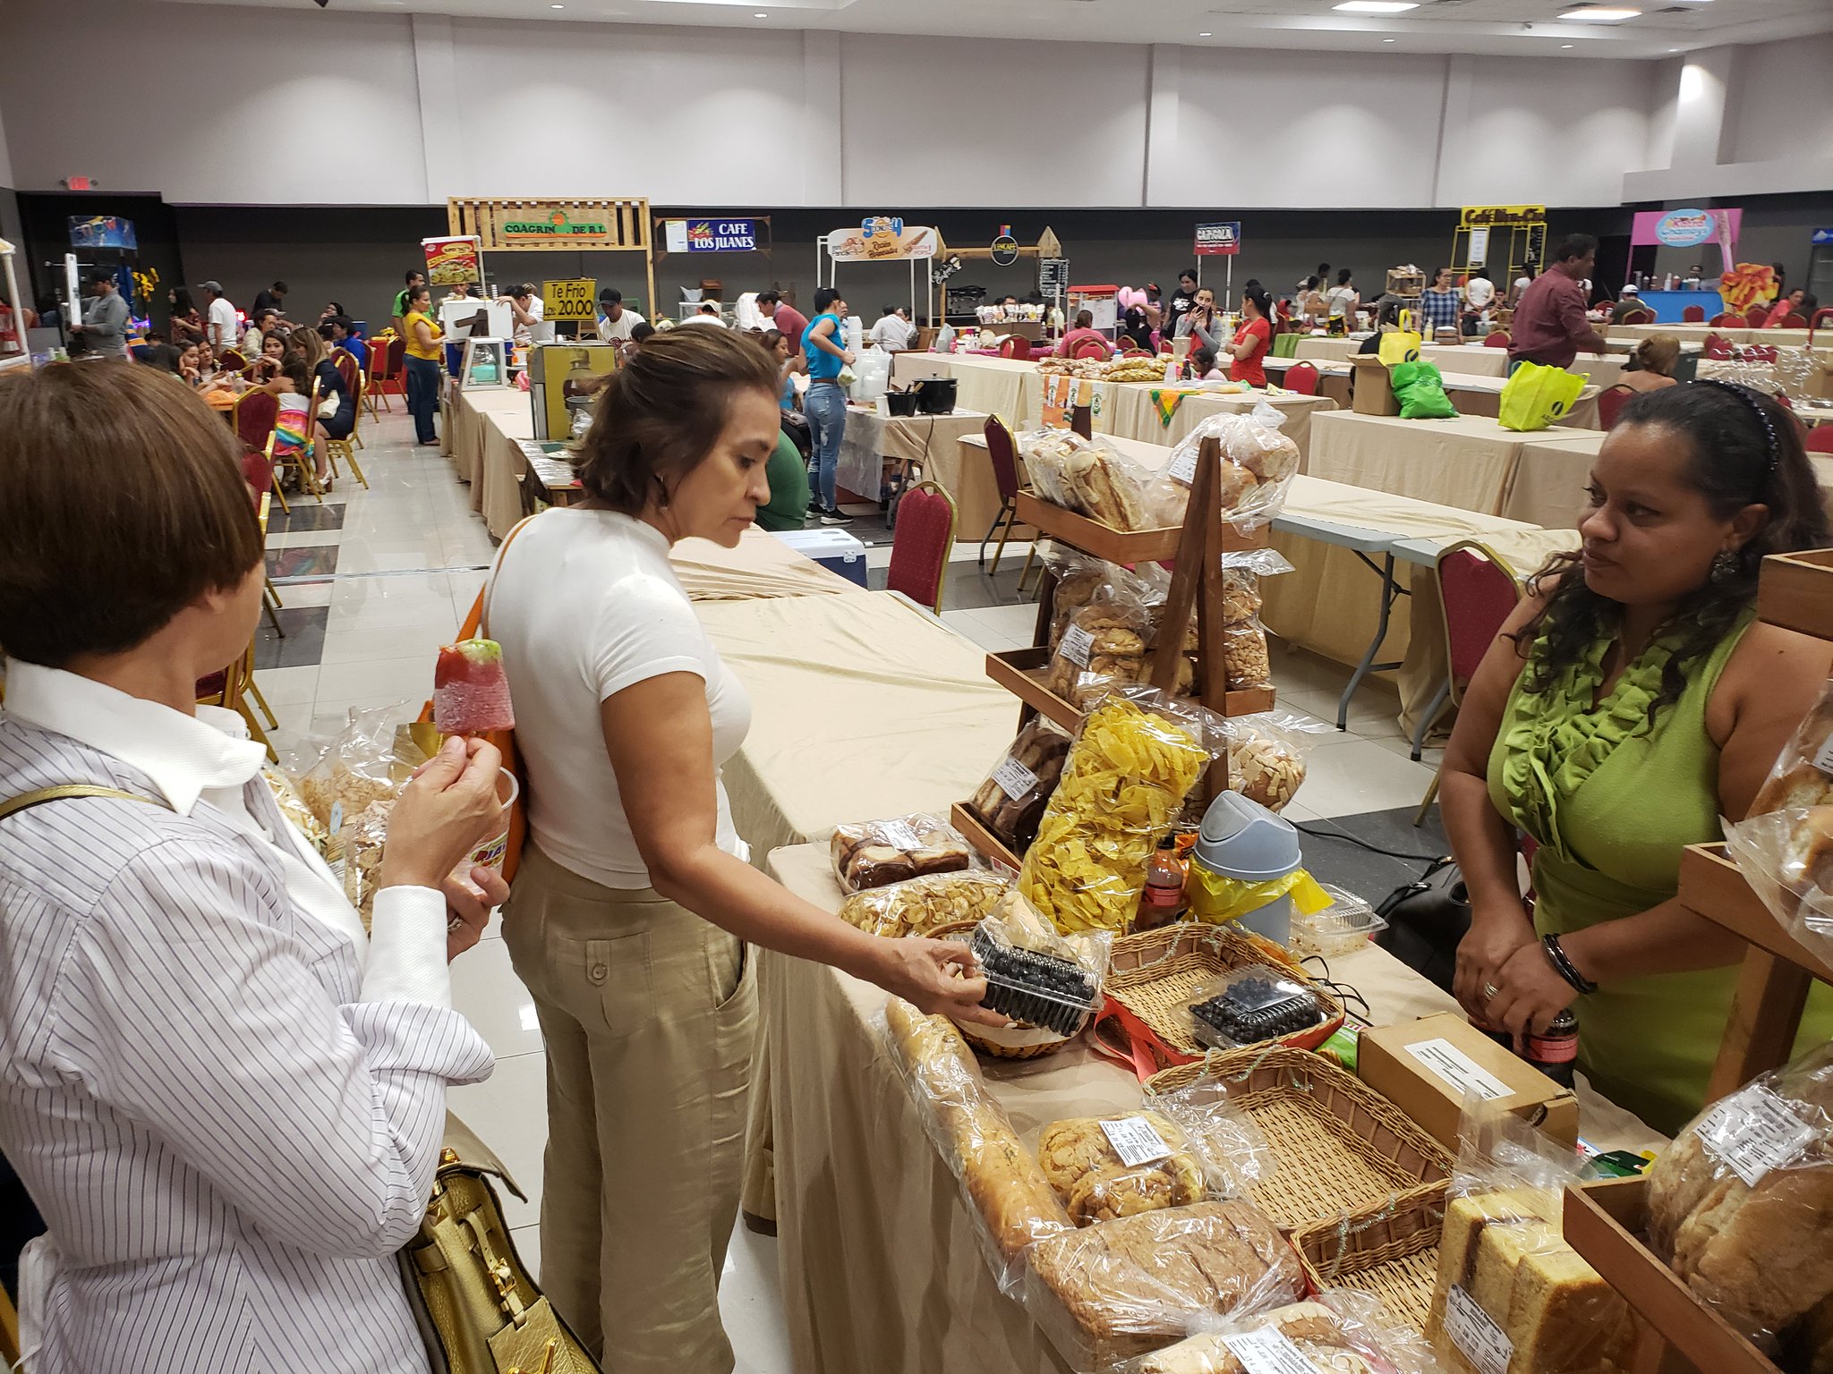
[[236, 442], [126, 361], [0, 377], [0, 649], [62, 667], [145, 643], [262, 559]]

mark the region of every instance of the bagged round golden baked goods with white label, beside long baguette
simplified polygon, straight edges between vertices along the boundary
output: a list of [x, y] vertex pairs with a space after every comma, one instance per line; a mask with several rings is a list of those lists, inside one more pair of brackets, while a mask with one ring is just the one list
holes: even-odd
[[1182, 1127], [1149, 1110], [1052, 1121], [1037, 1163], [1076, 1226], [1202, 1202], [1206, 1189]]

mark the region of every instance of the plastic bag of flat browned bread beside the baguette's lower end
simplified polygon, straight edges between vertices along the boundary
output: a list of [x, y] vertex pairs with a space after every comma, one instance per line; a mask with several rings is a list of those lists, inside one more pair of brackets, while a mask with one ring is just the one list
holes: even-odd
[[1298, 1253], [1250, 1202], [1195, 1202], [1039, 1240], [1025, 1308], [1070, 1369], [1107, 1370], [1204, 1317], [1296, 1303]]

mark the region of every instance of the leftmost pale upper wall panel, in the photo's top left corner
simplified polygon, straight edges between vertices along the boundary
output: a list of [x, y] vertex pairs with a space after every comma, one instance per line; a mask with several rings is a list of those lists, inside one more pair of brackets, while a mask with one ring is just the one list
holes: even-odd
[[[405, 13], [5, 0], [0, 53], [22, 191], [81, 172], [169, 202], [427, 200]], [[68, 88], [73, 64], [93, 90]]]

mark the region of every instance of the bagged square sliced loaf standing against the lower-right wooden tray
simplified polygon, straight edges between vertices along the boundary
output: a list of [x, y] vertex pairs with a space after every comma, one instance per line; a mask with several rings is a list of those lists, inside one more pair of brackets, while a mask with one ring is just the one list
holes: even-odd
[[1628, 1308], [1547, 1218], [1556, 1207], [1558, 1194], [1542, 1189], [1474, 1193], [1446, 1205], [1428, 1336], [1454, 1374], [1626, 1367]]

